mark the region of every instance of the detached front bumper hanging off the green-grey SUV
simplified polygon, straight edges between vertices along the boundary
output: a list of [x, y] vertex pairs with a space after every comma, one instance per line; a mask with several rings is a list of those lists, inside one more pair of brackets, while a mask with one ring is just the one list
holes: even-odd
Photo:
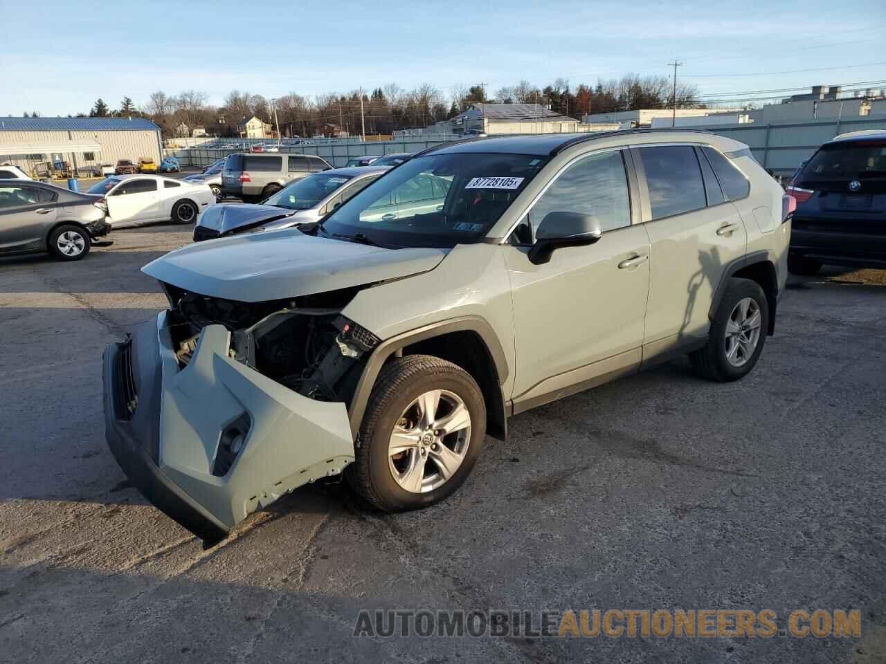
[[[296, 394], [231, 359], [229, 344], [228, 330], [207, 326], [179, 370], [160, 313], [104, 355], [105, 436], [114, 458], [144, 498], [206, 545], [354, 460], [343, 403]], [[243, 435], [237, 452], [232, 428]]]

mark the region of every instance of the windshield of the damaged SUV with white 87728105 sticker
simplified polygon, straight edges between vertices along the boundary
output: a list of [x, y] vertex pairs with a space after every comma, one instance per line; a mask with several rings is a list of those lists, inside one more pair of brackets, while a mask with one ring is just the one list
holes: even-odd
[[323, 222], [327, 235], [363, 235], [397, 247], [476, 242], [546, 162], [534, 155], [416, 157], [385, 174]]

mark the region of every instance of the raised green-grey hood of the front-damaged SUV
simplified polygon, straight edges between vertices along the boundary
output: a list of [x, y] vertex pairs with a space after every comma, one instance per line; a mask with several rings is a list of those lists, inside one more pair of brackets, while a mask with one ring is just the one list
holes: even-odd
[[384, 249], [286, 228], [190, 244], [142, 271], [200, 295], [263, 302], [428, 272], [446, 254], [419, 247]]

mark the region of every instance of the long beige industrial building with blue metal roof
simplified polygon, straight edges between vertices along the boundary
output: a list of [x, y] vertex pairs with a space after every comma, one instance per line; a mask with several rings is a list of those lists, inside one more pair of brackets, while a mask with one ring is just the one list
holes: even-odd
[[102, 164], [118, 159], [159, 163], [162, 149], [159, 127], [144, 118], [0, 117], [0, 164], [26, 173], [45, 164], [65, 164], [73, 174], [100, 173]]

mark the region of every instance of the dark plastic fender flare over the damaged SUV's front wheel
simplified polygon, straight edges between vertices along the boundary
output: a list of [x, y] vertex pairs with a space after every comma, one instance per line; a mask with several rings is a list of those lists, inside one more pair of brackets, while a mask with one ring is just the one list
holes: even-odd
[[[505, 382], [509, 374], [507, 357], [492, 326], [479, 316], [462, 316], [449, 320], [439, 320], [430, 325], [392, 336], [378, 344], [376, 349], [372, 351], [372, 354], [369, 355], [366, 367], [363, 367], [363, 373], [357, 382], [356, 390], [354, 390], [354, 398], [351, 399], [351, 403], [348, 406], [347, 415], [351, 421], [351, 433], [354, 435], [354, 438], [356, 438], [360, 431], [363, 414], [366, 413], [366, 405], [369, 404], [369, 395], [372, 393], [378, 374], [381, 372], [387, 359], [410, 344], [417, 344], [425, 339], [446, 335], [451, 332], [476, 333], [481, 341], [486, 344], [486, 349], [493, 359], [499, 385], [501, 386]], [[503, 395], [501, 407], [504, 407]]]

